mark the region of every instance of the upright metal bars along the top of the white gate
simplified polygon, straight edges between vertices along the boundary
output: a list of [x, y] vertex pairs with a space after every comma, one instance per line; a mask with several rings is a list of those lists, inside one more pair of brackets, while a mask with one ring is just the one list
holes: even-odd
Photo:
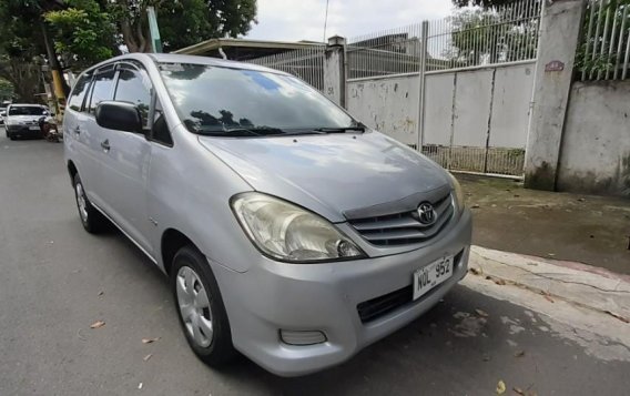
[[348, 78], [454, 70], [536, 59], [541, 0], [454, 16], [348, 40]]

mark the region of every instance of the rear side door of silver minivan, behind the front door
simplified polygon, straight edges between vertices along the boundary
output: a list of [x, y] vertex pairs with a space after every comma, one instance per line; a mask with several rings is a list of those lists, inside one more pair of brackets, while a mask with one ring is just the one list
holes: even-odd
[[110, 212], [110, 203], [103, 197], [106, 186], [103, 183], [102, 172], [106, 155], [101, 148], [101, 142], [105, 138], [103, 138], [104, 129], [96, 124], [94, 112], [100, 102], [113, 99], [115, 77], [113, 63], [94, 72], [85, 109], [77, 118], [75, 130], [70, 132], [79, 135], [78, 139], [84, 148], [83, 155], [80, 156], [82, 167], [79, 167], [79, 175], [88, 199], [106, 213]]

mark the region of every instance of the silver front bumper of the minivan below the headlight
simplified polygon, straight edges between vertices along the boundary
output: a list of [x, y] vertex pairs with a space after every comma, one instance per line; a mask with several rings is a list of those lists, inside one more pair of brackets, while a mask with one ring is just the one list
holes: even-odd
[[[433, 307], [465, 275], [471, 237], [470, 212], [423, 248], [349, 262], [286, 264], [257, 257], [236, 273], [211, 262], [232, 327], [234, 346], [281, 376], [305, 375], [337, 365]], [[417, 301], [362, 322], [357, 306], [413, 284], [413, 273], [454, 255], [454, 274]], [[295, 346], [280, 331], [319, 331], [326, 342]]]

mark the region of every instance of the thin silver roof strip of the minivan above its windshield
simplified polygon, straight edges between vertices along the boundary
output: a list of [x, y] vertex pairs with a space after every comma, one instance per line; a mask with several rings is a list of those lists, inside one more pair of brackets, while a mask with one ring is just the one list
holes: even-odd
[[124, 60], [136, 60], [136, 61], [144, 61], [144, 62], [154, 62], [154, 63], [191, 63], [191, 64], [205, 64], [205, 65], [214, 65], [214, 67], [223, 67], [223, 68], [232, 68], [232, 69], [243, 69], [243, 70], [255, 70], [255, 71], [264, 71], [264, 72], [272, 72], [277, 74], [286, 74], [280, 70], [265, 68], [254, 63], [245, 63], [245, 62], [236, 62], [230, 61], [225, 59], [217, 59], [217, 58], [210, 58], [210, 57], [197, 57], [197, 55], [187, 55], [187, 54], [180, 54], [180, 53], [128, 53], [124, 55], [115, 57], [112, 59], [108, 59], [101, 63], [94, 64], [92, 68], [88, 70], [92, 71], [98, 69], [102, 65], [116, 62], [116, 61], [124, 61]]

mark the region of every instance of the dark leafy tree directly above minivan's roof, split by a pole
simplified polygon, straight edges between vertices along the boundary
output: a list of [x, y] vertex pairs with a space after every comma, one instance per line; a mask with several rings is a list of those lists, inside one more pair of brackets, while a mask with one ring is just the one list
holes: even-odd
[[202, 40], [246, 33], [256, 0], [116, 0], [104, 2], [129, 51], [151, 51], [146, 8], [155, 7], [166, 52]]

